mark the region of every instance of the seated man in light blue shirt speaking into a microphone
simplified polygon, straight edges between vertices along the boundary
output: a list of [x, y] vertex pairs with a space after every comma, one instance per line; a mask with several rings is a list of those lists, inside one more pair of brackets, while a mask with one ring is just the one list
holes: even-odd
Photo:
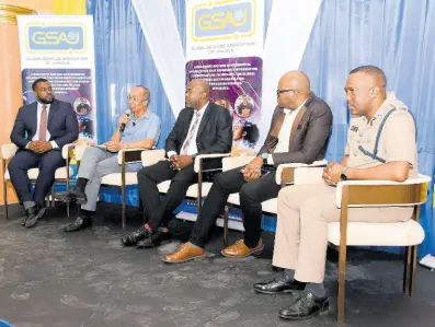
[[[160, 136], [160, 118], [148, 109], [150, 92], [138, 85], [128, 95], [130, 114], [124, 114], [118, 128], [103, 147], [90, 147], [84, 151], [77, 174], [76, 186], [56, 196], [64, 202], [77, 201], [82, 205], [77, 220], [65, 227], [65, 232], [76, 232], [92, 225], [92, 214], [96, 209], [101, 179], [103, 176], [121, 173], [117, 152], [124, 149], [152, 149]], [[127, 172], [137, 172], [140, 163], [127, 164]]]

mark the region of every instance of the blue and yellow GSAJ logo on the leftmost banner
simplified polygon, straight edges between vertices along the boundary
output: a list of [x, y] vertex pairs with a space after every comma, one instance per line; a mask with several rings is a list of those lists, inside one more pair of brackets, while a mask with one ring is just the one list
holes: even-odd
[[28, 49], [32, 51], [80, 51], [84, 49], [82, 26], [28, 26]]

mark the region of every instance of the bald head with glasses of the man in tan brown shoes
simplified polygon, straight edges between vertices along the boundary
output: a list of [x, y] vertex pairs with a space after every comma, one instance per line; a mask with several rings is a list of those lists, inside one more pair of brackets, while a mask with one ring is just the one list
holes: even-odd
[[278, 83], [278, 105], [296, 109], [310, 95], [310, 79], [299, 70], [286, 72]]

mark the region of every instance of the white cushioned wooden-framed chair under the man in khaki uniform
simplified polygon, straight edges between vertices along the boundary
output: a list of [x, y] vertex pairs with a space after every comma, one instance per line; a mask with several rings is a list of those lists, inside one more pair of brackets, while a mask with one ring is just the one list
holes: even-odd
[[[322, 168], [297, 168], [295, 185], [321, 184]], [[404, 246], [403, 293], [412, 295], [416, 267], [416, 247], [424, 240], [419, 223], [420, 206], [427, 200], [431, 178], [419, 175], [403, 183], [390, 180], [346, 180], [336, 186], [335, 205], [341, 209], [340, 222], [328, 223], [328, 241], [336, 248], [339, 261], [337, 320], [344, 323], [344, 291], [347, 246]], [[367, 223], [348, 222], [347, 210], [353, 207], [413, 207], [407, 222]]]

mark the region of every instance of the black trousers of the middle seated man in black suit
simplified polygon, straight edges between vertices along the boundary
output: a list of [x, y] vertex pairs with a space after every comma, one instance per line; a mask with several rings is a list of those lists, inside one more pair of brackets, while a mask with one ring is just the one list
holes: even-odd
[[[187, 188], [198, 182], [198, 174], [194, 165], [188, 165], [181, 171], [171, 168], [169, 161], [145, 167], [137, 173], [140, 200], [147, 214], [148, 225], [153, 232], [159, 226], [165, 226], [172, 218], [172, 212], [183, 202]], [[171, 179], [171, 186], [160, 201], [158, 184]]]

